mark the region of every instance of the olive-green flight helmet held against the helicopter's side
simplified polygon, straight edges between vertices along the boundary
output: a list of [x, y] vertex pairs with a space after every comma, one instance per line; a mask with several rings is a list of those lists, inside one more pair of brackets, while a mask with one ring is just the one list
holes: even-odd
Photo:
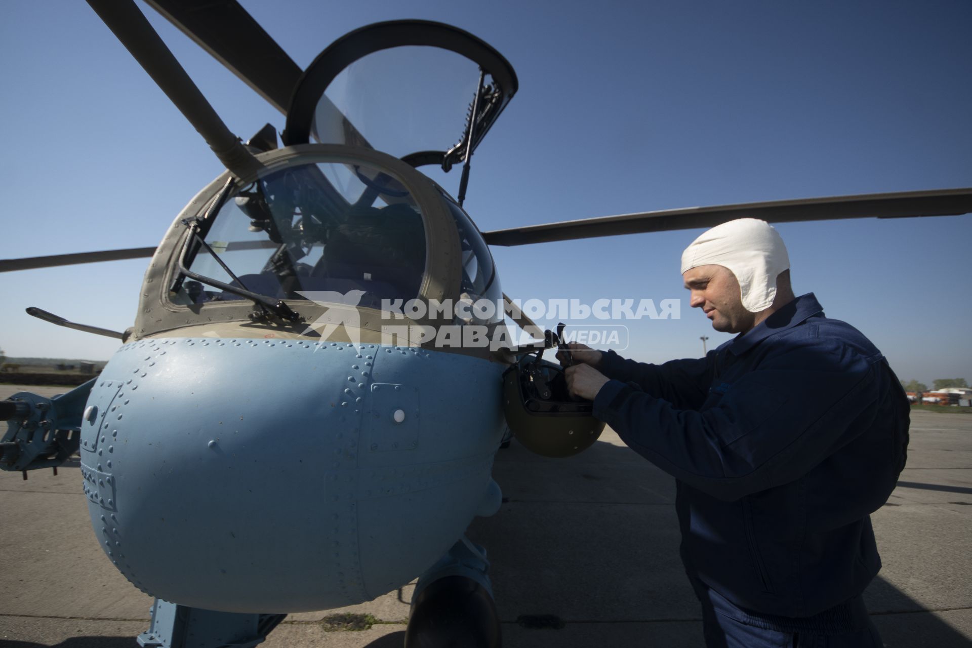
[[503, 373], [503, 412], [516, 440], [542, 457], [573, 457], [605, 424], [588, 400], [573, 400], [559, 364], [527, 355]]

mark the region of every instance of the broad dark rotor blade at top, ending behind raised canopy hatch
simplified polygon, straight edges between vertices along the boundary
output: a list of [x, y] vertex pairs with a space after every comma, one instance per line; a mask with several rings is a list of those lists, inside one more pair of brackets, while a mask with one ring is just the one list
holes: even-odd
[[303, 71], [236, 0], [146, 0], [283, 114]]

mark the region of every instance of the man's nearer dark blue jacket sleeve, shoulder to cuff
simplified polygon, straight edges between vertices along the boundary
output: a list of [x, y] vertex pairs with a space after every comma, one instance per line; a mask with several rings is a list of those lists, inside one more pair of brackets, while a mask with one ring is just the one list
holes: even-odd
[[880, 359], [835, 342], [791, 344], [710, 393], [702, 411], [612, 380], [594, 416], [677, 479], [731, 501], [797, 479], [866, 429]]

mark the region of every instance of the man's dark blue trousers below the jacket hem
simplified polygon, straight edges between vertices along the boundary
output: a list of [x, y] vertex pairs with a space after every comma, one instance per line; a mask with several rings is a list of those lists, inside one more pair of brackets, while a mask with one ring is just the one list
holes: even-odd
[[863, 619], [859, 630], [842, 633], [780, 631], [753, 625], [751, 615], [744, 610], [698, 579], [689, 576], [689, 580], [702, 603], [706, 648], [883, 648], [885, 645], [869, 617]]

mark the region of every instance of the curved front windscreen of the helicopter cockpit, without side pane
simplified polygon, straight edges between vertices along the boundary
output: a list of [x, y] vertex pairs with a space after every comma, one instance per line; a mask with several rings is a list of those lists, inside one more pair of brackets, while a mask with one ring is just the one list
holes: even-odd
[[[426, 266], [422, 212], [397, 180], [364, 164], [319, 162], [267, 174], [228, 197], [190, 269], [278, 299], [364, 290], [362, 306], [419, 294]], [[233, 276], [230, 276], [228, 268]], [[191, 303], [240, 299], [184, 282]]]

